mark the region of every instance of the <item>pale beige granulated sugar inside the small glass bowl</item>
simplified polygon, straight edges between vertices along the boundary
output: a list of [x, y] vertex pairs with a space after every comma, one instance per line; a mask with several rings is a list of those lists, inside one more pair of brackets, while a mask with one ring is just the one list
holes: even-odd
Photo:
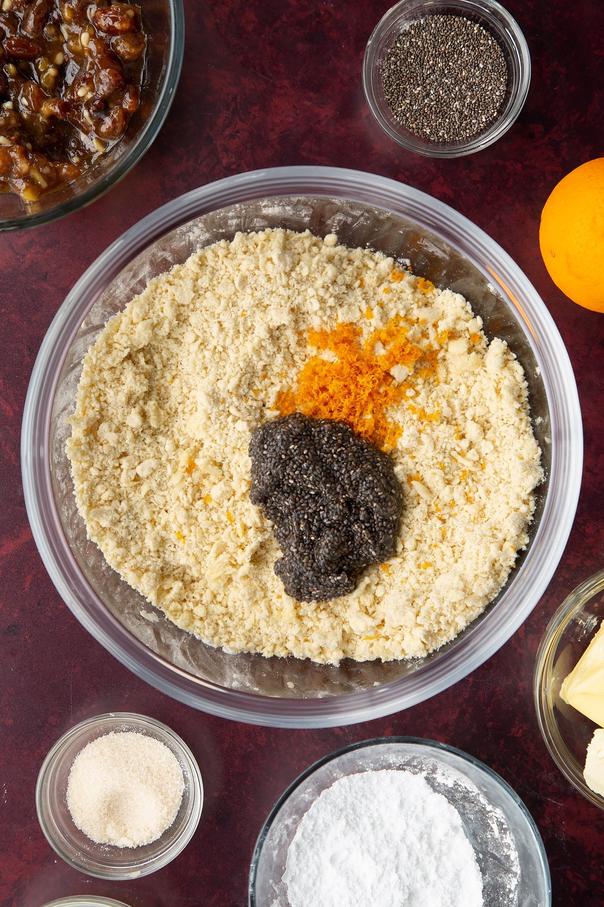
[[73, 822], [97, 844], [139, 847], [174, 822], [184, 788], [168, 746], [122, 731], [92, 740], [75, 757], [67, 805]]

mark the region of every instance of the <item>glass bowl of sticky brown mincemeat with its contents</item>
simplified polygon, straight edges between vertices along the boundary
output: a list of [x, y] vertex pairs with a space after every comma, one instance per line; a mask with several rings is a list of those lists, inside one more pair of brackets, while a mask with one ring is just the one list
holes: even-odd
[[0, 232], [90, 204], [155, 140], [177, 89], [182, 0], [0, 9]]

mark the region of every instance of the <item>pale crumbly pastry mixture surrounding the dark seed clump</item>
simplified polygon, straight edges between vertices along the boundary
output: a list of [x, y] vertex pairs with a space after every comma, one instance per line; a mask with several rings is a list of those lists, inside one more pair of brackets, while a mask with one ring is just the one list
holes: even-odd
[[[349, 595], [299, 602], [250, 502], [248, 445], [312, 361], [341, 385], [326, 337], [346, 329], [388, 366], [397, 553]], [[307, 414], [345, 409], [340, 385]], [[151, 280], [84, 357], [71, 421], [76, 502], [111, 567], [199, 639], [266, 656], [412, 658], [454, 639], [526, 545], [542, 481], [522, 366], [464, 297], [309, 231], [238, 233]]]

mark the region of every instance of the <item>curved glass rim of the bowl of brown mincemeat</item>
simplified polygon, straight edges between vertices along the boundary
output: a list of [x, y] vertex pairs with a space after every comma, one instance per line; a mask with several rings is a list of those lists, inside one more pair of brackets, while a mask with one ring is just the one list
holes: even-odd
[[93, 201], [100, 199], [102, 195], [116, 186], [120, 180], [135, 167], [141, 158], [149, 151], [151, 144], [157, 138], [168, 111], [174, 101], [177, 90], [180, 72], [185, 51], [185, 9], [183, 0], [168, 0], [170, 11], [170, 34], [172, 41], [166, 65], [166, 73], [161, 85], [158, 99], [153, 106], [149, 118], [144, 122], [139, 135], [129, 147], [129, 151], [116, 167], [111, 168], [105, 173], [98, 182], [95, 182], [81, 194], [73, 196], [72, 199], [56, 205], [54, 208], [40, 211], [37, 214], [20, 214], [11, 219], [0, 218], [0, 233], [8, 233], [18, 229], [29, 229], [40, 227], [43, 224], [51, 223], [53, 220], [60, 220], [72, 214], [76, 210], [86, 208]]

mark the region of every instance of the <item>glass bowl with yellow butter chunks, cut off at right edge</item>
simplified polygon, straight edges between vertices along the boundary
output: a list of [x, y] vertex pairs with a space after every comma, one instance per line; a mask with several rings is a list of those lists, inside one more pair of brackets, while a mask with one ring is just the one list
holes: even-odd
[[564, 600], [537, 652], [537, 720], [570, 784], [604, 809], [604, 570]]

